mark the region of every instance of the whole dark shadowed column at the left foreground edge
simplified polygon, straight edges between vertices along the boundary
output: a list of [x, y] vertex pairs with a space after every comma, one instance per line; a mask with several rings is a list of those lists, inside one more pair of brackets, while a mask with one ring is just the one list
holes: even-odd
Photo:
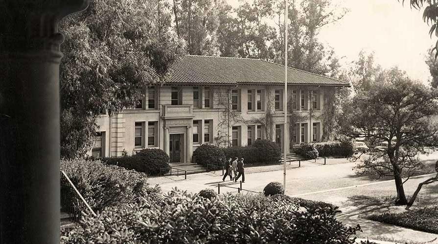
[[88, 0], [0, 0], [0, 243], [59, 243], [59, 21]]

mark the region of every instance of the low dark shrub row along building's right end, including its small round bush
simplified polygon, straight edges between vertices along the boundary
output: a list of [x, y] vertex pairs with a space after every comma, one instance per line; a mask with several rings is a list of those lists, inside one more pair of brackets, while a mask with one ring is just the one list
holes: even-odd
[[315, 156], [348, 158], [353, 155], [354, 150], [353, 143], [346, 140], [342, 142], [302, 142], [299, 147], [294, 148], [294, 152], [306, 159], [314, 159]]

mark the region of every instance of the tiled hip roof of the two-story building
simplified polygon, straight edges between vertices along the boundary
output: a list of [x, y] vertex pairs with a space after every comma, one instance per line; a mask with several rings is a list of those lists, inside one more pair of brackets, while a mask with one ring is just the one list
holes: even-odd
[[[348, 82], [288, 68], [288, 84], [350, 86]], [[186, 55], [173, 65], [172, 84], [284, 84], [284, 65], [216, 56]]]

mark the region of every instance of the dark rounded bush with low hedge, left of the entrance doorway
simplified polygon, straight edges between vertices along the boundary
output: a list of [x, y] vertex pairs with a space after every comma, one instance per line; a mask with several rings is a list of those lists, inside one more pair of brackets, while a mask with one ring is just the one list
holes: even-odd
[[170, 170], [169, 156], [161, 149], [143, 149], [133, 156], [121, 158], [103, 158], [103, 162], [118, 165], [126, 169], [134, 169], [148, 175], [159, 175]]

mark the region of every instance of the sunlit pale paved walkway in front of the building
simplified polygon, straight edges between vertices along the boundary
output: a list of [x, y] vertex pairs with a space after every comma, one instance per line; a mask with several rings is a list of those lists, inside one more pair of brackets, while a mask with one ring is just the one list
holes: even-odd
[[[435, 162], [438, 153], [423, 156], [422, 160]], [[378, 235], [393, 236], [395, 239], [413, 241], [431, 241], [437, 235], [411, 230], [408, 228], [382, 224], [367, 220], [365, 217], [371, 213], [385, 211], [404, 211], [403, 207], [396, 207], [382, 201], [382, 198], [396, 195], [393, 181], [374, 181], [368, 177], [356, 176], [353, 169], [355, 163], [346, 159], [327, 159], [326, 165], [323, 160], [304, 161], [301, 167], [297, 163], [287, 166], [286, 192], [289, 196], [299, 196], [309, 200], [318, 200], [333, 203], [343, 211], [338, 219], [344, 224], [355, 226], [360, 224], [363, 232], [358, 237], [375, 237]], [[283, 165], [260, 166], [245, 169], [245, 183], [243, 188], [252, 191], [263, 191], [266, 184], [277, 181], [283, 182]], [[222, 171], [216, 173], [202, 173], [188, 175], [187, 180], [183, 177], [151, 178], [150, 183], [158, 183], [163, 191], [169, 191], [178, 187], [190, 192], [199, 192], [204, 188], [217, 190], [218, 183], [238, 187], [239, 183], [231, 181], [222, 182]], [[410, 179], [404, 184], [407, 195], [415, 191], [419, 182], [427, 176]], [[236, 192], [236, 189], [221, 187], [223, 192]], [[438, 197], [438, 185], [430, 184], [423, 186], [419, 194], [420, 200], [436, 199]], [[415, 207], [415, 205], [414, 205]]]

